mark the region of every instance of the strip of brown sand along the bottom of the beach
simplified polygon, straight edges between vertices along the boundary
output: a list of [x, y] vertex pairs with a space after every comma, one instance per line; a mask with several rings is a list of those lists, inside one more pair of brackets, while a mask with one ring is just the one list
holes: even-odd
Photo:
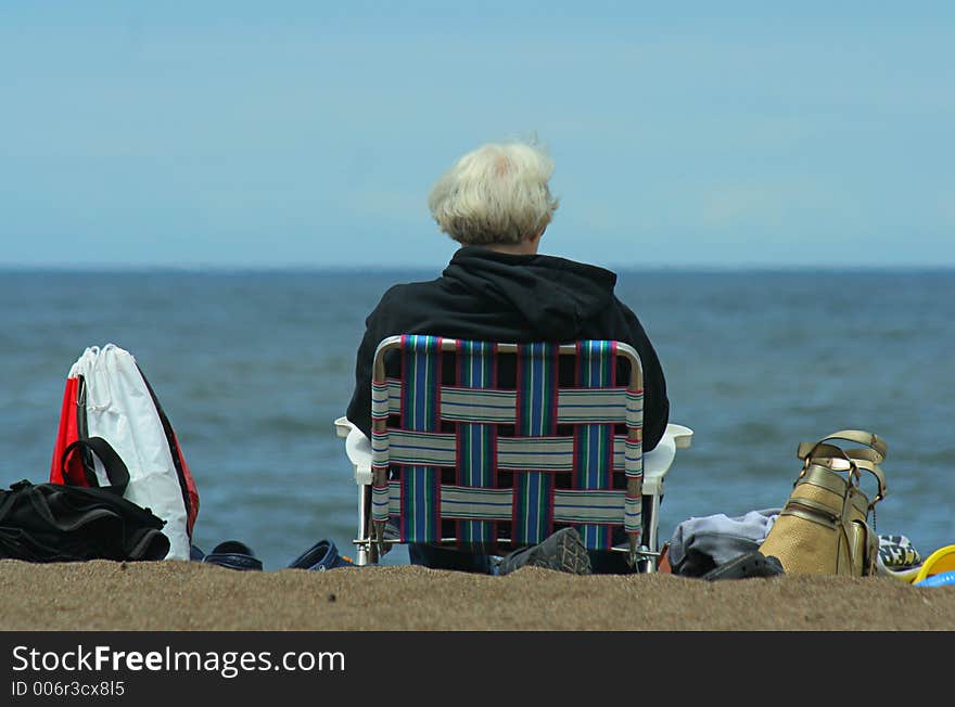
[[240, 573], [0, 561], [4, 630], [952, 631], [955, 587], [893, 578], [507, 577], [420, 567]]

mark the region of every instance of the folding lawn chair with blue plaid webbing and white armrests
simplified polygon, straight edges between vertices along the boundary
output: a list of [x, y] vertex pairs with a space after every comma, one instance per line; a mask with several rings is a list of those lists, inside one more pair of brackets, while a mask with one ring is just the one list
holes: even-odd
[[372, 439], [335, 421], [359, 486], [357, 564], [396, 543], [506, 554], [573, 526], [655, 571], [664, 477], [693, 433], [667, 425], [644, 454], [642, 399], [619, 342], [384, 339]]

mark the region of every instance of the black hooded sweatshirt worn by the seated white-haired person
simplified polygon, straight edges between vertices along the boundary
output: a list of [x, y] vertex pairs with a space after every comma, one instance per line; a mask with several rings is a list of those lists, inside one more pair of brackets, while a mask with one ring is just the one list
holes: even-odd
[[365, 321], [347, 416], [371, 436], [371, 369], [378, 344], [396, 334], [486, 342], [617, 340], [644, 369], [644, 450], [663, 436], [670, 413], [657, 352], [633, 311], [613, 293], [616, 275], [547, 255], [479, 246], [455, 253], [442, 277], [391, 287]]

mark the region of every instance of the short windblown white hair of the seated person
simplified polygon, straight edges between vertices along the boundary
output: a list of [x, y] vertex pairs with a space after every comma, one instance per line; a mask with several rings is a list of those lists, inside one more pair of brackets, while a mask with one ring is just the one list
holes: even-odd
[[547, 182], [553, 160], [521, 142], [485, 144], [438, 178], [428, 196], [438, 228], [464, 245], [521, 243], [540, 233], [558, 200]]

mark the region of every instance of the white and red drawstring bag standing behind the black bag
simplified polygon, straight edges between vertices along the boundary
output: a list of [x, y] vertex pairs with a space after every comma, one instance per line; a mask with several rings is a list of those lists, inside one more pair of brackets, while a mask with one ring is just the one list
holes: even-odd
[[145, 375], [129, 351], [115, 344], [92, 346], [69, 369], [53, 452], [54, 484], [106, 486], [94, 457], [63, 453], [76, 439], [102, 437], [126, 463], [124, 498], [165, 522], [166, 560], [189, 560], [199, 493], [173, 427]]

